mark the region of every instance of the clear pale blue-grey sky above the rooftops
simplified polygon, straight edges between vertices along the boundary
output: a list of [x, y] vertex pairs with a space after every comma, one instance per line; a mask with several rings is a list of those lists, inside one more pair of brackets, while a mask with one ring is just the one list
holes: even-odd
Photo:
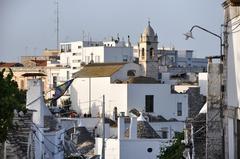
[[[58, 0], [60, 42], [104, 40], [111, 36], [137, 44], [148, 19], [159, 47], [194, 50], [195, 57], [219, 54], [219, 39], [199, 29], [194, 39], [183, 33], [200, 25], [221, 34], [223, 0]], [[83, 34], [84, 33], [84, 34]], [[0, 61], [20, 62], [56, 48], [56, 0], [0, 0]]]

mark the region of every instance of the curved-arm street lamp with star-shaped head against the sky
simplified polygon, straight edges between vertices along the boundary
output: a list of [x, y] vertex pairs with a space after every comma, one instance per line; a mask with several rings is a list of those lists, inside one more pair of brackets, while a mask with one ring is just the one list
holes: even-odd
[[215, 34], [215, 33], [213, 33], [213, 32], [211, 32], [211, 31], [209, 31], [209, 30], [207, 30], [207, 29], [205, 29], [205, 28], [203, 28], [203, 27], [200, 27], [198, 25], [194, 25], [194, 26], [192, 26], [192, 28], [190, 29], [189, 32], [184, 34], [186, 36], [186, 38], [185, 38], [186, 40], [188, 40], [189, 38], [194, 39], [194, 37], [192, 35], [192, 31], [193, 31], [194, 28], [201, 29], [201, 30], [203, 30], [203, 31], [205, 31], [205, 32], [207, 32], [207, 33], [209, 33], [209, 34], [219, 38], [219, 41], [220, 41], [220, 56], [214, 56], [213, 58], [220, 58], [221, 61], [222, 61], [223, 60], [222, 47], [224, 46], [224, 44], [222, 43], [222, 37], [217, 35], [217, 34]]

